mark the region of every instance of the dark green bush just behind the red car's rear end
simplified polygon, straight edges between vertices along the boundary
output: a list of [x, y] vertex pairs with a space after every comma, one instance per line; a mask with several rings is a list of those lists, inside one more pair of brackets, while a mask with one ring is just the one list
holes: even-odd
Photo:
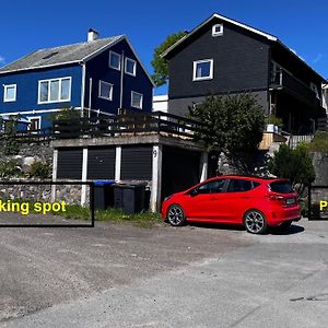
[[288, 178], [296, 188], [298, 195], [315, 180], [315, 169], [306, 144], [298, 144], [291, 149], [282, 144], [269, 161], [269, 171], [280, 178]]

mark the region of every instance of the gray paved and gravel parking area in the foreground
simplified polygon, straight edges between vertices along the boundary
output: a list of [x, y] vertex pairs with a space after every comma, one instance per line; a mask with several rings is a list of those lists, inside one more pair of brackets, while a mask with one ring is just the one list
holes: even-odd
[[328, 222], [0, 230], [0, 327], [327, 327]]

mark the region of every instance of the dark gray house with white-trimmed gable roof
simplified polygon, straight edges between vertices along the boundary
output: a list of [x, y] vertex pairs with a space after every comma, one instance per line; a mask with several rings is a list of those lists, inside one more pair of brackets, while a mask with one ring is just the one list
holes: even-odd
[[325, 79], [276, 36], [213, 14], [163, 55], [169, 66], [168, 112], [185, 115], [207, 95], [251, 93], [292, 133], [312, 132]]

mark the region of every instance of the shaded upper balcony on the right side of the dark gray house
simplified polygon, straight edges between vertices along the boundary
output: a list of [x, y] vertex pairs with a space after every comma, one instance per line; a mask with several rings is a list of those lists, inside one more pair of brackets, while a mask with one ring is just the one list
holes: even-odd
[[309, 85], [303, 83], [282, 68], [271, 72], [270, 89], [284, 90], [312, 107], [320, 104], [319, 97]]

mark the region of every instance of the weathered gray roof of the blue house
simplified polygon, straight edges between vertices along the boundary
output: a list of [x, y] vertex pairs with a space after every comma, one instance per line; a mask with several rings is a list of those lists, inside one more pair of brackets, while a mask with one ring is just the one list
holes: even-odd
[[122, 38], [125, 38], [124, 35], [118, 35], [92, 42], [36, 50], [0, 68], [0, 74], [85, 61]]

